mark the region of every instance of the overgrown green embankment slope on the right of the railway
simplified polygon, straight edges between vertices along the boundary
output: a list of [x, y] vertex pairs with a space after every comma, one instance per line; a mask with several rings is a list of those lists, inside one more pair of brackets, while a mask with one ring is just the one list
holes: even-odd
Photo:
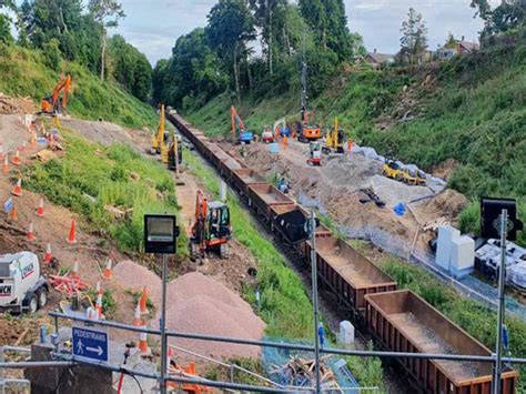
[[[434, 89], [421, 89], [424, 77], [436, 78]], [[374, 122], [391, 114], [402, 88], [416, 85], [415, 120], [380, 131]], [[314, 100], [320, 122], [340, 124], [353, 140], [374, 147], [382, 154], [432, 170], [449, 158], [459, 165], [449, 185], [473, 199], [461, 218], [462, 230], [476, 231], [476, 200], [482, 195], [519, 200], [526, 221], [526, 44], [494, 48], [456, 58], [438, 70], [408, 75], [398, 70], [354, 70], [341, 75]], [[254, 100], [245, 99], [240, 112], [247, 125], [260, 132], [265, 124], [287, 115], [297, 118], [299, 93]], [[189, 119], [210, 134], [229, 133], [231, 97], [219, 95]], [[415, 109], [413, 109], [415, 111]], [[526, 244], [526, 235], [519, 240]]]

